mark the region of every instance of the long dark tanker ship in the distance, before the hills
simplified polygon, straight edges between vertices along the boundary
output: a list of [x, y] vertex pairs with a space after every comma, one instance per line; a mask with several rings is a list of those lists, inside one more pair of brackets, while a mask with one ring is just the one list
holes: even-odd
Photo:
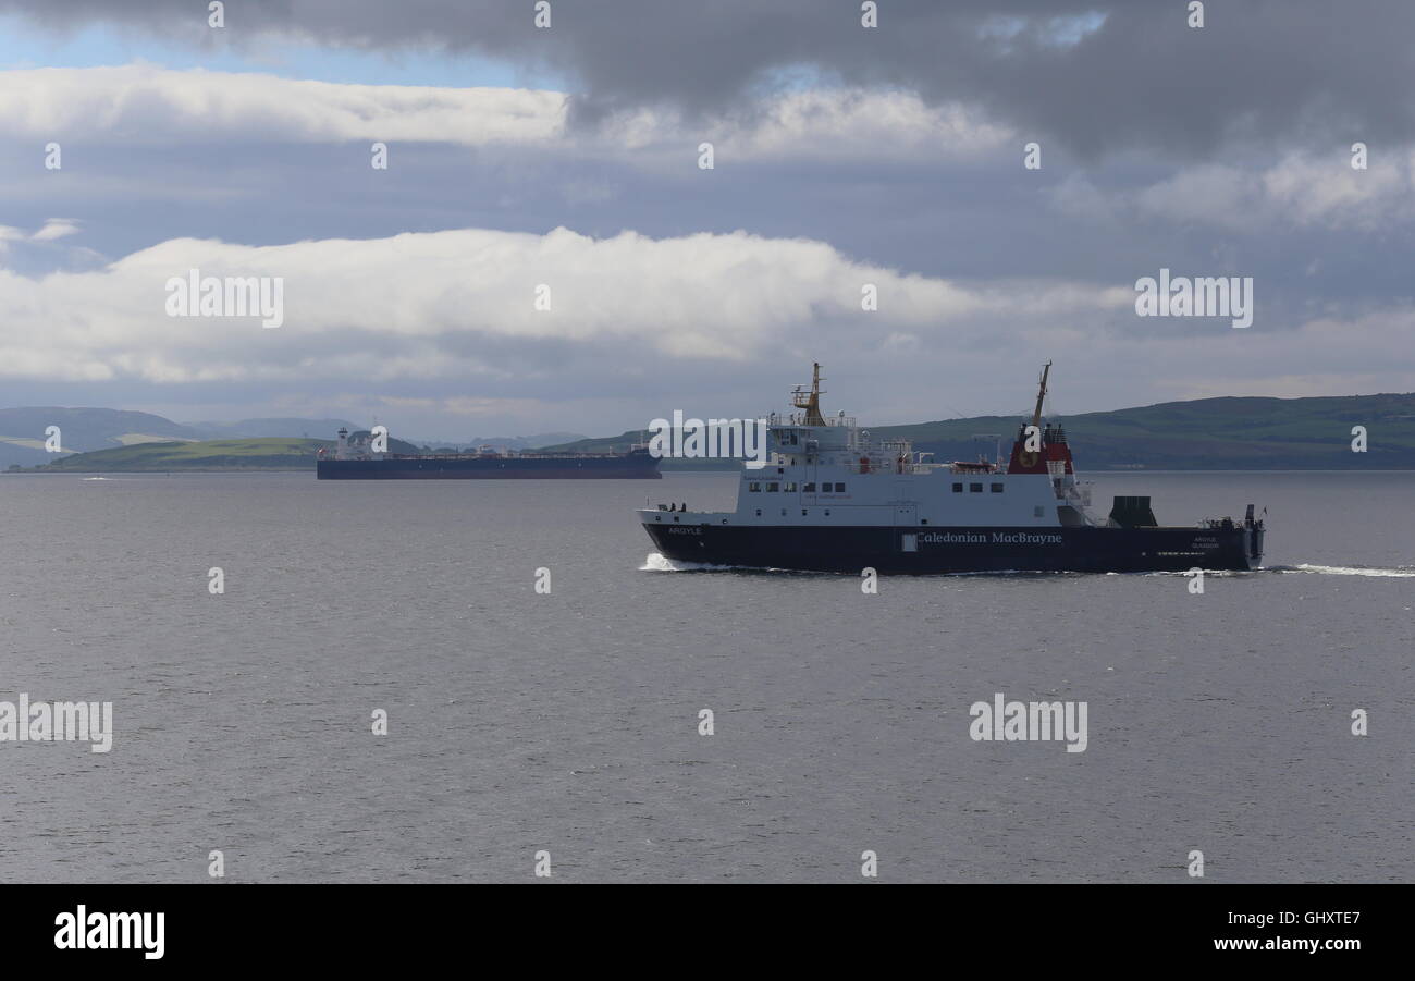
[[340, 429], [334, 456], [320, 450], [318, 480], [658, 480], [658, 457], [647, 446], [627, 453], [378, 453]]

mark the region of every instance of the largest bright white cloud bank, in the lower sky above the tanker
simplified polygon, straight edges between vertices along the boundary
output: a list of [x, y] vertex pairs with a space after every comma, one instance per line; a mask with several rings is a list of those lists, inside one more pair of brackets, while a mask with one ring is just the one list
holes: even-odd
[[[167, 280], [194, 268], [283, 277], [284, 326], [166, 316]], [[879, 311], [860, 310], [865, 283], [879, 287]], [[535, 309], [539, 285], [550, 287], [550, 311]], [[1067, 283], [968, 287], [852, 262], [824, 242], [746, 232], [593, 239], [563, 228], [463, 229], [262, 248], [174, 239], [91, 272], [31, 279], [0, 270], [0, 372], [446, 379], [502, 372], [509, 345], [565, 343], [594, 343], [614, 357], [741, 364], [792, 344], [869, 350], [945, 333], [949, 343], [989, 344], [995, 320], [1094, 316], [1132, 303], [1129, 290]]]

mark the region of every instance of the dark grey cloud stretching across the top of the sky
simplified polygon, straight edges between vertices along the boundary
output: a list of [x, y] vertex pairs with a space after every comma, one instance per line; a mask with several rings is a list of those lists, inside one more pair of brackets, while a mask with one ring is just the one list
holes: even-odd
[[[1087, 156], [1126, 147], [1187, 157], [1232, 137], [1364, 140], [1415, 134], [1408, 0], [880, 0], [863, 30], [842, 0], [552, 0], [553, 27], [505, 0], [228, 3], [224, 41], [265, 37], [388, 52], [511, 59], [576, 78], [579, 119], [651, 103], [750, 112], [807, 67], [828, 79], [961, 99]], [[54, 28], [117, 23], [212, 42], [191, 0], [0, 0]], [[1094, 30], [1085, 31], [1085, 27]]]

